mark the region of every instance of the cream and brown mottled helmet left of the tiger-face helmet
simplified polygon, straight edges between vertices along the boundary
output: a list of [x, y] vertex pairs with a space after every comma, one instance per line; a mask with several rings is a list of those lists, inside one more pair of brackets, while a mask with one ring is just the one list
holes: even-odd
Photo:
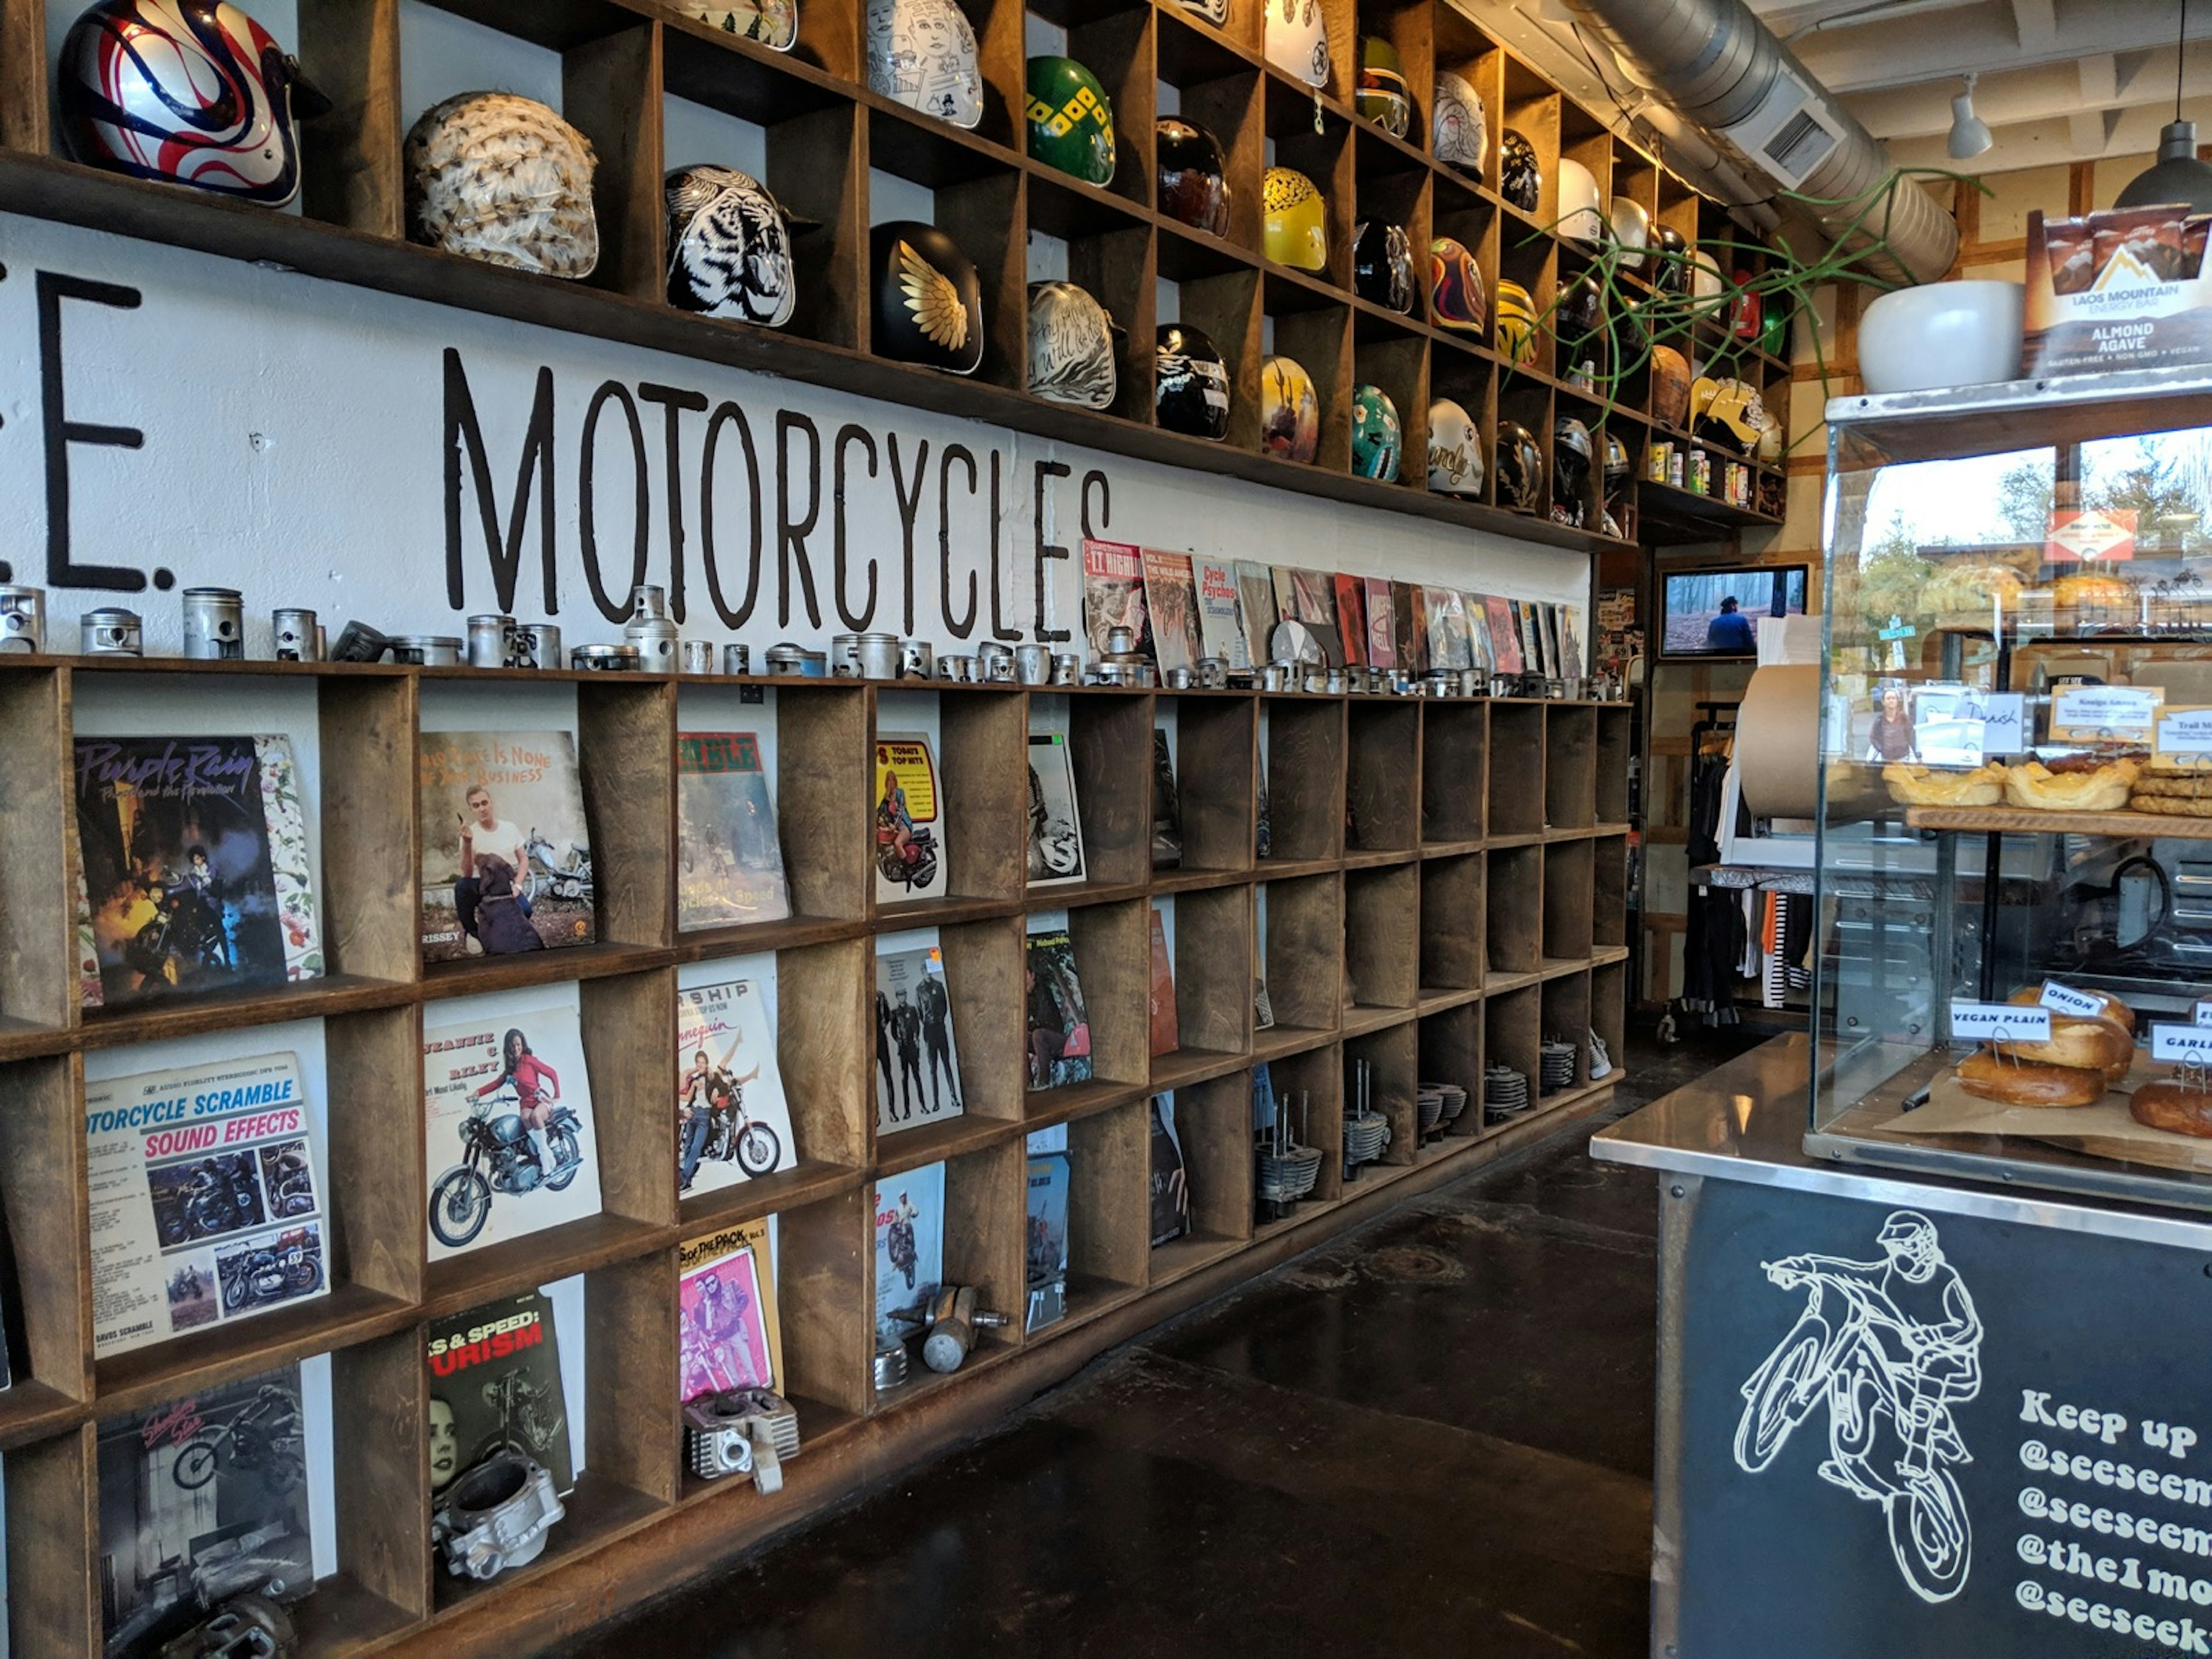
[[407, 234], [449, 254], [542, 276], [591, 276], [591, 144], [544, 104], [462, 93], [407, 128]]

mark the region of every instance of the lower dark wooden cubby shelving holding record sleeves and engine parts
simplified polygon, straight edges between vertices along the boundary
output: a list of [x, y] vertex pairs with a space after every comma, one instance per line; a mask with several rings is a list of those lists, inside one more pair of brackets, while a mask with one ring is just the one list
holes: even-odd
[[[82, 1013], [73, 975], [73, 708], [88, 681], [137, 679], [177, 730], [195, 701], [239, 681], [312, 695], [296, 732], [321, 776], [321, 916], [332, 978], [250, 998]], [[591, 947], [526, 964], [473, 960], [425, 973], [416, 945], [420, 825], [411, 810], [425, 697], [573, 688], [599, 869]], [[672, 905], [675, 745], [686, 699], [759, 686], [748, 710], [774, 730], [785, 867], [801, 911], [759, 927], [679, 933]], [[102, 688], [111, 690], [111, 688]], [[714, 692], [728, 697], [728, 692]], [[867, 754], [878, 712], [905, 723], [936, 703], [953, 803], [951, 898], [874, 902]], [[1051, 708], [1033, 708], [1051, 701]], [[641, 1597], [745, 1542], [836, 1502], [854, 1484], [973, 1431], [1102, 1347], [1279, 1261], [1371, 1210], [1394, 1183], [1447, 1179], [1531, 1124], [1593, 1108], [1613, 1079], [1579, 1075], [1531, 1119], [1416, 1135], [1413, 1086], [1462, 1082], [1486, 1057], [1535, 1077], [1544, 1035], [1595, 1029], [1621, 1053], [1624, 825], [1599, 754], [1626, 737], [1621, 703], [1263, 697], [1250, 692], [1020, 688], [909, 690], [858, 681], [728, 681], [498, 675], [383, 666], [0, 659], [0, 763], [15, 781], [0, 860], [0, 1203], [9, 1219], [27, 1354], [0, 1391], [9, 1637], [18, 1655], [100, 1650], [93, 1425], [272, 1365], [332, 1356], [338, 1482], [336, 1579], [303, 1604], [316, 1655], [513, 1650]], [[1024, 889], [1026, 732], [1064, 719], [1095, 880]], [[1179, 745], [1181, 869], [1150, 869], [1150, 750]], [[1369, 752], [1371, 750], [1371, 752]], [[1272, 845], [1254, 856], [1254, 770], [1267, 754]], [[1506, 779], [1491, 787], [1491, 776]], [[1139, 781], [1146, 781], [1139, 787]], [[1144, 803], [1130, 807], [1130, 803]], [[1546, 816], [1551, 814], [1551, 816]], [[1517, 834], [1493, 838], [1511, 823]], [[1150, 907], [1172, 905], [1183, 1046], [1150, 1057]], [[1097, 1079], [1024, 1088], [1022, 936], [1068, 911]], [[878, 933], [940, 929], [967, 1115], [878, 1137], [872, 993]], [[779, 1053], [801, 1164], [681, 1199], [675, 1175], [677, 969], [774, 953]], [[1279, 1024], [1254, 1031], [1265, 975]], [[604, 1212], [431, 1265], [420, 1124], [420, 1033], [436, 1002], [577, 982], [602, 1157]], [[252, 1053], [261, 1029], [321, 1022], [330, 1051], [334, 1294], [111, 1360], [91, 1360], [84, 1053], [223, 1031]], [[274, 1037], [272, 1037], [274, 1042]], [[1254, 1225], [1252, 1068], [1307, 1106], [1334, 1148], [1352, 1062], [1374, 1064], [1391, 1115], [1387, 1159], [1343, 1179], [1327, 1159], [1314, 1199]], [[153, 1055], [148, 1064], [164, 1064]], [[1194, 1232], [1150, 1250], [1148, 1097], [1172, 1091]], [[993, 1332], [956, 1376], [918, 1374], [874, 1398], [874, 1181], [947, 1159], [947, 1274], [1020, 1305], [1024, 1137], [1066, 1124], [1075, 1152], [1068, 1318], [1022, 1338]], [[1418, 1186], [1396, 1188], [1400, 1192]], [[675, 1248], [717, 1223], [779, 1217], [785, 1389], [805, 1451], [792, 1484], [695, 1482], [681, 1471]], [[546, 1555], [460, 1586], [431, 1559], [425, 1321], [484, 1298], [584, 1279], [586, 1473]], [[568, 1568], [586, 1573], [577, 1597]], [[560, 1586], [560, 1588], [555, 1588]]]

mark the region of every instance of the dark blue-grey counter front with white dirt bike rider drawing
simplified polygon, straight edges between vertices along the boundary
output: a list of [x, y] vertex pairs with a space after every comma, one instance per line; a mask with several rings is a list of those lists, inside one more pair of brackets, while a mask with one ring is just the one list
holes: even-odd
[[2212, 1655], [2212, 1256], [1692, 1203], [1679, 1659]]

